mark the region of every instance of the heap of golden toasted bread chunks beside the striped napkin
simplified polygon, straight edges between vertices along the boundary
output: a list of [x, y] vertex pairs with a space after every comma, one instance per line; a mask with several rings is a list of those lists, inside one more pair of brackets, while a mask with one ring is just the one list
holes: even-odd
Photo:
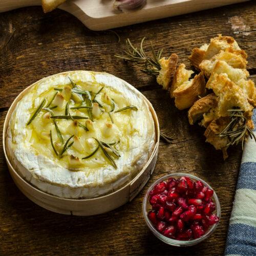
[[194, 71], [186, 70], [183, 63], [176, 69], [177, 61], [171, 61], [177, 60], [176, 54], [172, 54], [168, 61], [169, 65], [175, 65], [169, 69], [174, 73], [168, 84], [170, 97], [175, 98], [179, 110], [190, 108], [189, 123], [199, 121], [206, 128], [206, 141], [216, 150], [222, 150], [224, 159], [228, 156], [229, 138], [218, 134], [230, 122], [229, 110], [242, 110], [246, 125], [251, 130], [254, 128], [251, 116], [256, 107], [256, 89], [253, 81], [247, 79], [246, 58], [247, 54], [234, 38], [219, 35], [212, 38], [210, 44], [193, 49], [189, 60], [200, 71], [193, 79], [189, 80]]

